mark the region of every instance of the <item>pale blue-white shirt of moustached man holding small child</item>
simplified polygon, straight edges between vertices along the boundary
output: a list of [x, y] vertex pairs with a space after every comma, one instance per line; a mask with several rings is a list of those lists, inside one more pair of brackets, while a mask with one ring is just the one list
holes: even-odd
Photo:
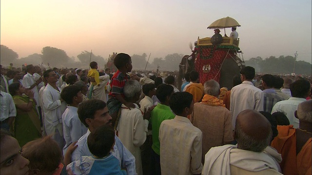
[[[76, 143], [78, 147], [72, 154], [72, 161], [78, 160], [81, 156], [92, 156], [87, 139], [90, 135], [90, 130], [84, 134]], [[119, 160], [119, 166], [121, 169], [126, 168], [128, 175], [136, 175], [136, 158], [130, 153], [130, 151], [122, 144], [117, 136], [115, 136], [114, 149], [111, 151], [112, 155]]]

